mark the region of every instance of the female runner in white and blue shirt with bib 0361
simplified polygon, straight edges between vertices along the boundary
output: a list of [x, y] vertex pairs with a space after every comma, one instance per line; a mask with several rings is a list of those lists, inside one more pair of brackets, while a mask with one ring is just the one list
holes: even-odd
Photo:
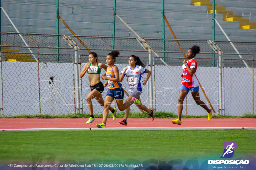
[[[141, 74], [147, 73], [147, 78], [142, 81], [142, 84], [145, 86], [149, 77], [151, 76], [151, 71], [145, 69], [145, 65], [141, 62], [140, 58], [132, 55], [129, 58], [129, 65], [130, 67], [125, 67], [121, 71], [121, 76], [120, 76], [120, 82], [123, 81], [124, 76], [126, 75], [127, 81], [129, 84], [129, 91], [131, 95], [125, 100], [125, 102], [129, 101], [132, 99], [132, 97], [140, 99], [140, 95], [142, 93], [142, 87], [141, 87]], [[138, 104], [138, 108], [142, 109], [151, 116], [152, 121], [154, 120], [154, 110], [153, 109], [148, 109], [145, 105], [143, 104]], [[127, 118], [129, 116], [130, 112], [130, 107], [125, 109], [124, 112], [124, 120], [122, 122], [119, 122], [122, 125], [127, 125]]]

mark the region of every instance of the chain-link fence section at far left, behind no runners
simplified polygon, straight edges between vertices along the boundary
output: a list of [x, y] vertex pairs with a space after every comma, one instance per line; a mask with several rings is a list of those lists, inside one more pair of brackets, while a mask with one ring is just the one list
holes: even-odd
[[[74, 108], [74, 98], [71, 97], [74, 96], [72, 63], [40, 61], [51, 61], [56, 58], [55, 54], [1, 53], [1, 103], [5, 115], [67, 113], [69, 108]], [[31, 59], [32, 55], [40, 58], [40, 62]], [[73, 54], [58, 56], [64, 61], [72, 58]]]

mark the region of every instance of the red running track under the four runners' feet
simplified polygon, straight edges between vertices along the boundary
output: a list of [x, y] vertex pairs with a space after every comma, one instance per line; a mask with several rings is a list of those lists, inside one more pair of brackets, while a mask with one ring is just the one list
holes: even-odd
[[[0, 129], [25, 129], [25, 128], [96, 128], [97, 123], [102, 123], [101, 118], [87, 124], [89, 119], [0, 119]], [[122, 118], [108, 119], [106, 127], [256, 127], [256, 119], [182, 119], [182, 125], [175, 125], [175, 119], [128, 119], [128, 125], [119, 124]]]

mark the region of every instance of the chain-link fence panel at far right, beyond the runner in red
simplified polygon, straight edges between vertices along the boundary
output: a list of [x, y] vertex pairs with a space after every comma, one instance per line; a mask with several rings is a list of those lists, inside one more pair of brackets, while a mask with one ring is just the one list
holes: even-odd
[[244, 67], [239, 59], [223, 59], [223, 98], [225, 115], [233, 115], [238, 110], [255, 113], [255, 71], [254, 60], [244, 60], [251, 68]]

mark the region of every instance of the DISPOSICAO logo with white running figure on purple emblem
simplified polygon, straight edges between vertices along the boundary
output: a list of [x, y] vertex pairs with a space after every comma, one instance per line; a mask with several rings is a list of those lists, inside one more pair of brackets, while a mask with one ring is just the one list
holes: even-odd
[[[224, 151], [220, 158], [232, 158], [234, 155], [234, 149], [237, 149], [237, 143], [236, 142], [223, 142]], [[208, 160], [209, 164], [249, 164], [249, 160]]]

